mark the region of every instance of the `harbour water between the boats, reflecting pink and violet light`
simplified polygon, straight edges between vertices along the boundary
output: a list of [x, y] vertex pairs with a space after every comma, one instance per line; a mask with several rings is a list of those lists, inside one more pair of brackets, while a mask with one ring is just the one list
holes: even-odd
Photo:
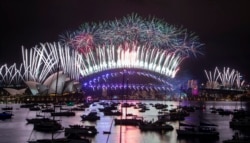
[[[117, 101], [119, 102], [119, 101]], [[185, 122], [198, 124], [201, 120], [209, 123], [217, 124], [216, 129], [219, 131], [220, 136], [217, 140], [202, 140], [198, 138], [190, 139], [178, 139], [176, 129], [179, 128], [179, 122], [168, 122], [174, 127], [173, 131], [167, 132], [142, 132], [137, 126], [119, 126], [114, 125], [113, 119], [117, 116], [104, 116], [102, 112], [98, 112], [101, 117], [96, 122], [82, 122], [81, 115], [87, 114], [92, 109], [101, 108], [102, 105], [98, 103], [92, 104], [85, 111], [76, 111], [76, 115], [73, 117], [55, 117], [56, 120], [60, 120], [63, 127], [68, 127], [72, 124], [82, 125], [95, 125], [98, 134], [95, 137], [90, 138], [92, 143], [222, 143], [223, 140], [231, 139], [232, 135], [236, 132], [229, 127], [229, 121], [232, 115], [222, 116], [219, 114], [213, 114], [210, 111], [211, 107], [222, 108], [228, 110], [234, 109], [246, 109], [249, 110], [249, 104], [246, 102], [233, 102], [233, 101], [128, 101], [129, 103], [146, 103], [150, 109], [146, 112], [139, 112], [138, 109], [127, 108], [127, 113], [142, 116], [145, 120], [156, 120], [158, 110], [155, 109], [152, 104], [163, 103], [167, 104], [168, 109], [176, 108], [177, 106], [202, 106], [203, 110], [196, 110], [191, 112], [188, 117], [185, 118]], [[0, 104], [0, 107], [5, 107], [5, 104]], [[1, 143], [26, 143], [28, 140], [36, 140], [41, 138], [52, 138], [49, 133], [41, 133], [33, 130], [32, 124], [27, 124], [26, 118], [36, 117], [37, 111], [30, 111], [28, 108], [20, 108], [20, 104], [10, 104], [13, 107], [13, 118], [8, 120], [0, 120], [0, 142]], [[125, 112], [125, 108], [123, 108]], [[45, 116], [49, 116], [49, 113], [44, 113]], [[110, 131], [111, 134], [103, 134], [103, 131]], [[64, 137], [63, 132], [58, 132], [53, 135], [54, 138]]]

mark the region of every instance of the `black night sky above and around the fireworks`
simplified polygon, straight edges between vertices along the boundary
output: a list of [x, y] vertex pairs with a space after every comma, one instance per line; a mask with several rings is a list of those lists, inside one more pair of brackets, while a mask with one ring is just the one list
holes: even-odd
[[1, 0], [0, 65], [21, 61], [21, 47], [57, 42], [59, 35], [86, 22], [137, 13], [183, 26], [204, 43], [203, 56], [181, 64], [181, 72], [205, 78], [216, 66], [250, 79], [250, 2], [248, 0]]

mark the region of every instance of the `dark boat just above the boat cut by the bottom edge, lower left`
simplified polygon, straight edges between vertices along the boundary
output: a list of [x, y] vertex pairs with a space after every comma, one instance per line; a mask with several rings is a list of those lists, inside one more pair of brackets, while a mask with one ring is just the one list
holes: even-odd
[[95, 126], [70, 125], [65, 128], [64, 135], [78, 134], [81, 136], [94, 137], [98, 133]]

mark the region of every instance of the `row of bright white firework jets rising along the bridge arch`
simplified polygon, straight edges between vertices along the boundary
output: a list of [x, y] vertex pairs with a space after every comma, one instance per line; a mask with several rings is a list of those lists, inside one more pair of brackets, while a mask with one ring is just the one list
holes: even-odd
[[97, 47], [96, 52], [88, 52], [82, 56], [79, 69], [82, 76], [88, 76], [108, 69], [139, 68], [154, 71], [168, 77], [175, 77], [179, 64], [184, 59], [167, 50], [137, 46], [127, 43]]

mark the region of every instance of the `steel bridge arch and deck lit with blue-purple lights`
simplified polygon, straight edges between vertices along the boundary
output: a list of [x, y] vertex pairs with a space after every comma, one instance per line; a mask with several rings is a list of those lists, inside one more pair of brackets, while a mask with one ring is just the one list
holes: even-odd
[[172, 91], [172, 78], [142, 69], [112, 69], [82, 77], [83, 88]]

